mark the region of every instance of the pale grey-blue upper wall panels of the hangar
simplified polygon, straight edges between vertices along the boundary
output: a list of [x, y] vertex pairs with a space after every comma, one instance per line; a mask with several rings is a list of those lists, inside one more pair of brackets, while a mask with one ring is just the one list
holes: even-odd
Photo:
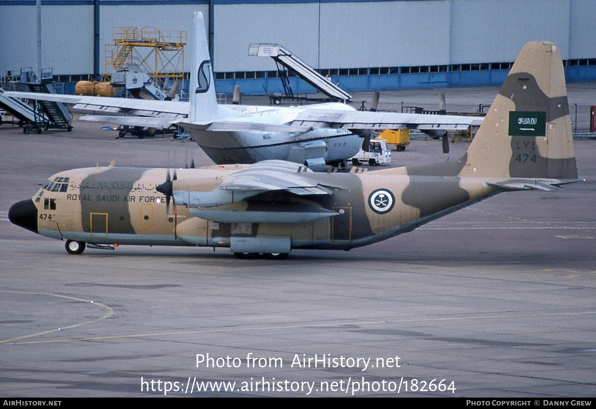
[[[46, 5], [52, 1], [42, 6], [42, 66], [53, 67], [55, 75], [92, 73], [92, 2]], [[101, 70], [112, 27], [190, 34], [193, 11], [209, 12], [205, 1], [198, 2], [102, 3]], [[214, 10], [216, 72], [274, 70], [271, 59], [248, 57], [252, 42], [284, 45], [321, 69], [513, 61], [525, 42], [537, 39], [557, 44], [563, 59], [596, 58], [594, 0], [215, 0]], [[0, 72], [35, 67], [35, 16], [35, 1], [0, 0]], [[186, 71], [191, 45], [189, 35]]]

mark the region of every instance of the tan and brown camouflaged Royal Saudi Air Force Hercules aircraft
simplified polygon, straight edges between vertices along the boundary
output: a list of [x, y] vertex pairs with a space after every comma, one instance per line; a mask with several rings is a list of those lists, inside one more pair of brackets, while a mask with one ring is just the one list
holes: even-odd
[[67, 240], [69, 253], [85, 243], [162, 244], [284, 258], [291, 249], [365, 246], [497, 193], [576, 181], [561, 57], [554, 44], [531, 42], [458, 160], [364, 173], [316, 173], [281, 160], [75, 169], [51, 176], [9, 218]]

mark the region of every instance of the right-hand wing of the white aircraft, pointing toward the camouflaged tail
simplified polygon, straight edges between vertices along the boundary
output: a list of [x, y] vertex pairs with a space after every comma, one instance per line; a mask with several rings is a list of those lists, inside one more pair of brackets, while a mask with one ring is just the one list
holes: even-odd
[[291, 125], [313, 128], [346, 129], [418, 129], [420, 131], [464, 131], [468, 126], [480, 126], [483, 118], [397, 112], [304, 110]]

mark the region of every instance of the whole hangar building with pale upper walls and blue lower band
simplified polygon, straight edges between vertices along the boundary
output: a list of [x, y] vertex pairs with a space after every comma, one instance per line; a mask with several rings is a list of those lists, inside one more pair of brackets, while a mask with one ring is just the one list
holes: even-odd
[[[251, 43], [283, 45], [349, 91], [500, 84], [522, 45], [558, 45], [567, 80], [596, 79], [593, 0], [42, 0], [42, 67], [72, 82], [104, 73], [114, 27], [210, 32], [218, 92], [277, 91], [274, 61]], [[36, 67], [35, 0], [0, 0], [0, 73]], [[303, 82], [297, 92], [311, 92]], [[72, 87], [74, 89], [74, 87]]]

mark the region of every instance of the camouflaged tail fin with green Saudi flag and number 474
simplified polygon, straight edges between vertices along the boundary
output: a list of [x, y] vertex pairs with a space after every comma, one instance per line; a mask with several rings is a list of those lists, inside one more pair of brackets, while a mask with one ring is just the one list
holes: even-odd
[[550, 42], [529, 42], [468, 148], [464, 173], [576, 179], [563, 63]]

